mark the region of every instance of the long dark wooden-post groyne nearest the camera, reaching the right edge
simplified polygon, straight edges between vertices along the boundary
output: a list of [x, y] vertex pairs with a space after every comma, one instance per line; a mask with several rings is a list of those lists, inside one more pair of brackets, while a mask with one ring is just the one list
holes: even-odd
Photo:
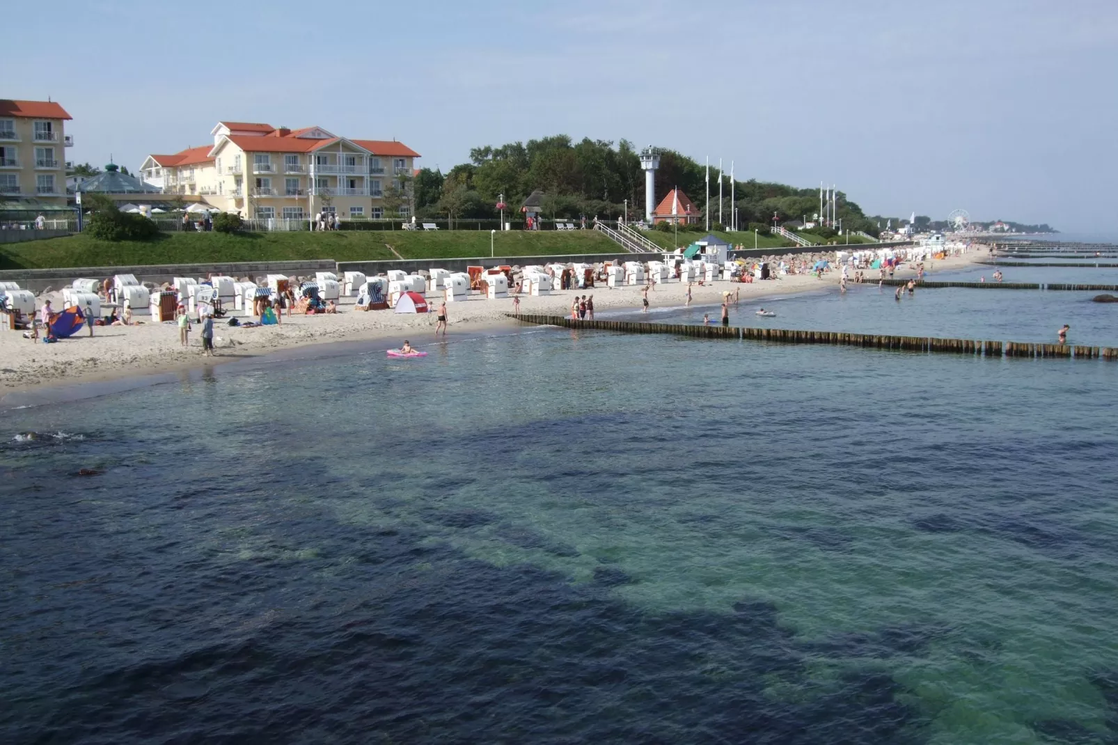
[[557, 326], [568, 329], [615, 331], [618, 333], [659, 333], [701, 339], [770, 341], [786, 345], [831, 345], [916, 352], [947, 352], [980, 357], [1035, 357], [1064, 359], [1106, 359], [1118, 361], [1118, 348], [1044, 345], [1027, 341], [991, 341], [982, 339], [940, 339], [937, 337], [896, 337], [880, 333], [846, 331], [809, 331], [803, 329], [766, 329], [741, 326], [689, 326], [686, 323], [642, 323], [637, 321], [589, 321], [561, 315], [508, 313], [521, 323]]

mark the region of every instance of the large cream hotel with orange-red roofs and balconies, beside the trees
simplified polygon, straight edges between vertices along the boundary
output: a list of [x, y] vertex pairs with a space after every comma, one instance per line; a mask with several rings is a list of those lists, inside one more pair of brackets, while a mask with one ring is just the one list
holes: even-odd
[[401, 142], [250, 122], [218, 122], [210, 134], [212, 145], [149, 155], [140, 178], [246, 218], [307, 219], [323, 209], [345, 219], [410, 214], [406, 204], [388, 214], [385, 204], [389, 189], [404, 189], [419, 158]]

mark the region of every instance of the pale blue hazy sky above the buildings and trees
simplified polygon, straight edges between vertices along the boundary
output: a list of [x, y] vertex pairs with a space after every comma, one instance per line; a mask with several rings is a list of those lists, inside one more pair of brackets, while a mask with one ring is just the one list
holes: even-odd
[[1115, 0], [57, 6], [49, 40], [7, 9], [0, 96], [61, 103], [77, 162], [134, 169], [219, 120], [398, 139], [444, 172], [561, 133], [836, 183], [870, 215], [1114, 219]]

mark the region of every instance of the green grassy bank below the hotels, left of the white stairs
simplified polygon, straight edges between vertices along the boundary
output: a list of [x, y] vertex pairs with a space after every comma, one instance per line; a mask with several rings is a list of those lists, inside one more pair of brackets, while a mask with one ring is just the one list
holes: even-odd
[[[395, 258], [388, 245], [405, 258], [489, 256], [489, 230], [410, 233], [405, 230], [340, 230], [330, 233], [167, 233], [152, 242], [96, 241], [73, 235], [47, 241], [0, 245], [0, 270], [129, 266], [144, 264], [209, 264], [216, 262], [376, 261]], [[574, 233], [513, 230], [499, 233], [498, 256], [617, 253], [619, 246], [593, 230]]]

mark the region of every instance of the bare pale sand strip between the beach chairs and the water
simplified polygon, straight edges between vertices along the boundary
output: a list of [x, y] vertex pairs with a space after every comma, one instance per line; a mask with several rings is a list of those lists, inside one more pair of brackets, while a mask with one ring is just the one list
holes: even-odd
[[[928, 262], [929, 272], [957, 268], [979, 258], [979, 252], [970, 252], [942, 261]], [[871, 274], [871, 272], [868, 272]], [[872, 274], [875, 274], [872, 273]], [[907, 266], [897, 276], [915, 275]], [[787, 295], [825, 289], [839, 283], [839, 272], [830, 272], [823, 279], [814, 275], [790, 275], [777, 281], [737, 283], [719, 281], [708, 285], [692, 285], [693, 305], [716, 305], [712, 317], [717, 317], [717, 305], [726, 291], [741, 292], [740, 313], [752, 309], [756, 301], [774, 295]], [[641, 307], [638, 286], [608, 289], [599, 286], [586, 291], [553, 291], [546, 296], [520, 295], [520, 312], [565, 315], [570, 312], [575, 294], [593, 294], [596, 312], [634, 310]], [[650, 305], [678, 308], [684, 304], [686, 285], [672, 282], [656, 285], [648, 293]], [[48, 295], [51, 296], [53, 295]], [[435, 293], [428, 298], [437, 308]], [[60, 302], [60, 300], [55, 300]], [[472, 293], [465, 302], [448, 304], [449, 336], [473, 332], [486, 327], [513, 326], [508, 318], [513, 311], [512, 298], [486, 300]], [[248, 320], [240, 317], [241, 320]], [[655, 315], [651, 317], [654, 320]], [[140, 320], [143, 320], [142, 318]], [[733, 315], [731, 315], [733, 322]], [[188, 367], [200, 367], [267, 355], [271, 352], [305, 347], [309, 345], [372, 341], [408, 337], [414, 345], [434, 339], [435, 314], [397, 314], [388, 311], [356, 311], [353, 299], [344, 298], [338, 314], [285, 315], [282, 326], [262, 328], [229, 327], [225, 319], [217, 321], [215, 346], [217, 356], [201, 356], [201, 337], [198, 326], [190, 334], [190, 346], [179, 343], [179, 332], [174, 323], [142, 323], [129, 327], [96, 327], [91, 338], [84, 331], [58, 343], [36, 343], [25, 339], [22, 333], [0, 332], [0, 395], [15, 390], [26, 390], [40, 386], [73, 384], [83, 380], [105, 380], [120, 377], [167, 372]]]

